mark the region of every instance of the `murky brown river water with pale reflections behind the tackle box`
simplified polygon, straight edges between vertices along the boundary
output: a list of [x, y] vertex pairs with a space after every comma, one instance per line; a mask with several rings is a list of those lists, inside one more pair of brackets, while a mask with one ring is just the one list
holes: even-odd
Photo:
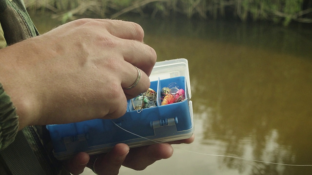
[[[41, 33], [57, 25], [31, 16]], [[143, 171], [119, 174], [312, 174], [312, 166], [205, 155], [312, 165], [311, 25], [120, 19], [143, 27], [158, 61], [188, 59], [196, 139]]]

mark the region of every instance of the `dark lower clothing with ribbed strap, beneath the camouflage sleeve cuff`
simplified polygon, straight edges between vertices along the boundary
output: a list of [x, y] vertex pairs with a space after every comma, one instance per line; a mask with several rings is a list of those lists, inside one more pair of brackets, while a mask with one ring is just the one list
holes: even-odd
[[28, 126], [19, 131], [15, 141], [0, 151], [0, 167], [7, 169], [9, 175], [70, 175], [53, 157], [47, 133], [44, 126]]

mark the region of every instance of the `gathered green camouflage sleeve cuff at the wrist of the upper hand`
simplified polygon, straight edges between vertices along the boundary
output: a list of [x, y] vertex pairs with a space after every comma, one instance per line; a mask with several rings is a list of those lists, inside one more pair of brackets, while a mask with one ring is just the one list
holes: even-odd
[[17, 131], [16, 108], [0, 83], [0, 150], [14, 141]]

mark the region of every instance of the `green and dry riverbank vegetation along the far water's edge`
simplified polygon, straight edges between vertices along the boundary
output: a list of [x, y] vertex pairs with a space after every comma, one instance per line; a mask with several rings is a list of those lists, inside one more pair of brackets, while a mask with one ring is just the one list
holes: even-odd
[[270, 20], [312, 23], [312, 0], [24, 0], [28, 10], [51, 11], [62, 22], [82, 16], [117, 18], [126, 13], [188, 18], [236, 17], [241, 21]]

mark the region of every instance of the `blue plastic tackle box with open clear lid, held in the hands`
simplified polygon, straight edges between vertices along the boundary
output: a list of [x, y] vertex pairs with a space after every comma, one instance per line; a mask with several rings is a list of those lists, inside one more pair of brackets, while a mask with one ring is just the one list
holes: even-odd
[[[47, 125], [54, 156], [65, 160], [81, 151], [90, 155], [109, 152], [118, 143], [125, 143], [133, 148], [191, 137], [194, 124], [187, 60], [157, 62], [150, 80], [150, 88], [157, 91], [155, 107], [136, 111], [128, 100], [127, 112], [118, 119]], [[161, 89], [173, 82], [185, 91], [186, 100], [160, 106]]]

